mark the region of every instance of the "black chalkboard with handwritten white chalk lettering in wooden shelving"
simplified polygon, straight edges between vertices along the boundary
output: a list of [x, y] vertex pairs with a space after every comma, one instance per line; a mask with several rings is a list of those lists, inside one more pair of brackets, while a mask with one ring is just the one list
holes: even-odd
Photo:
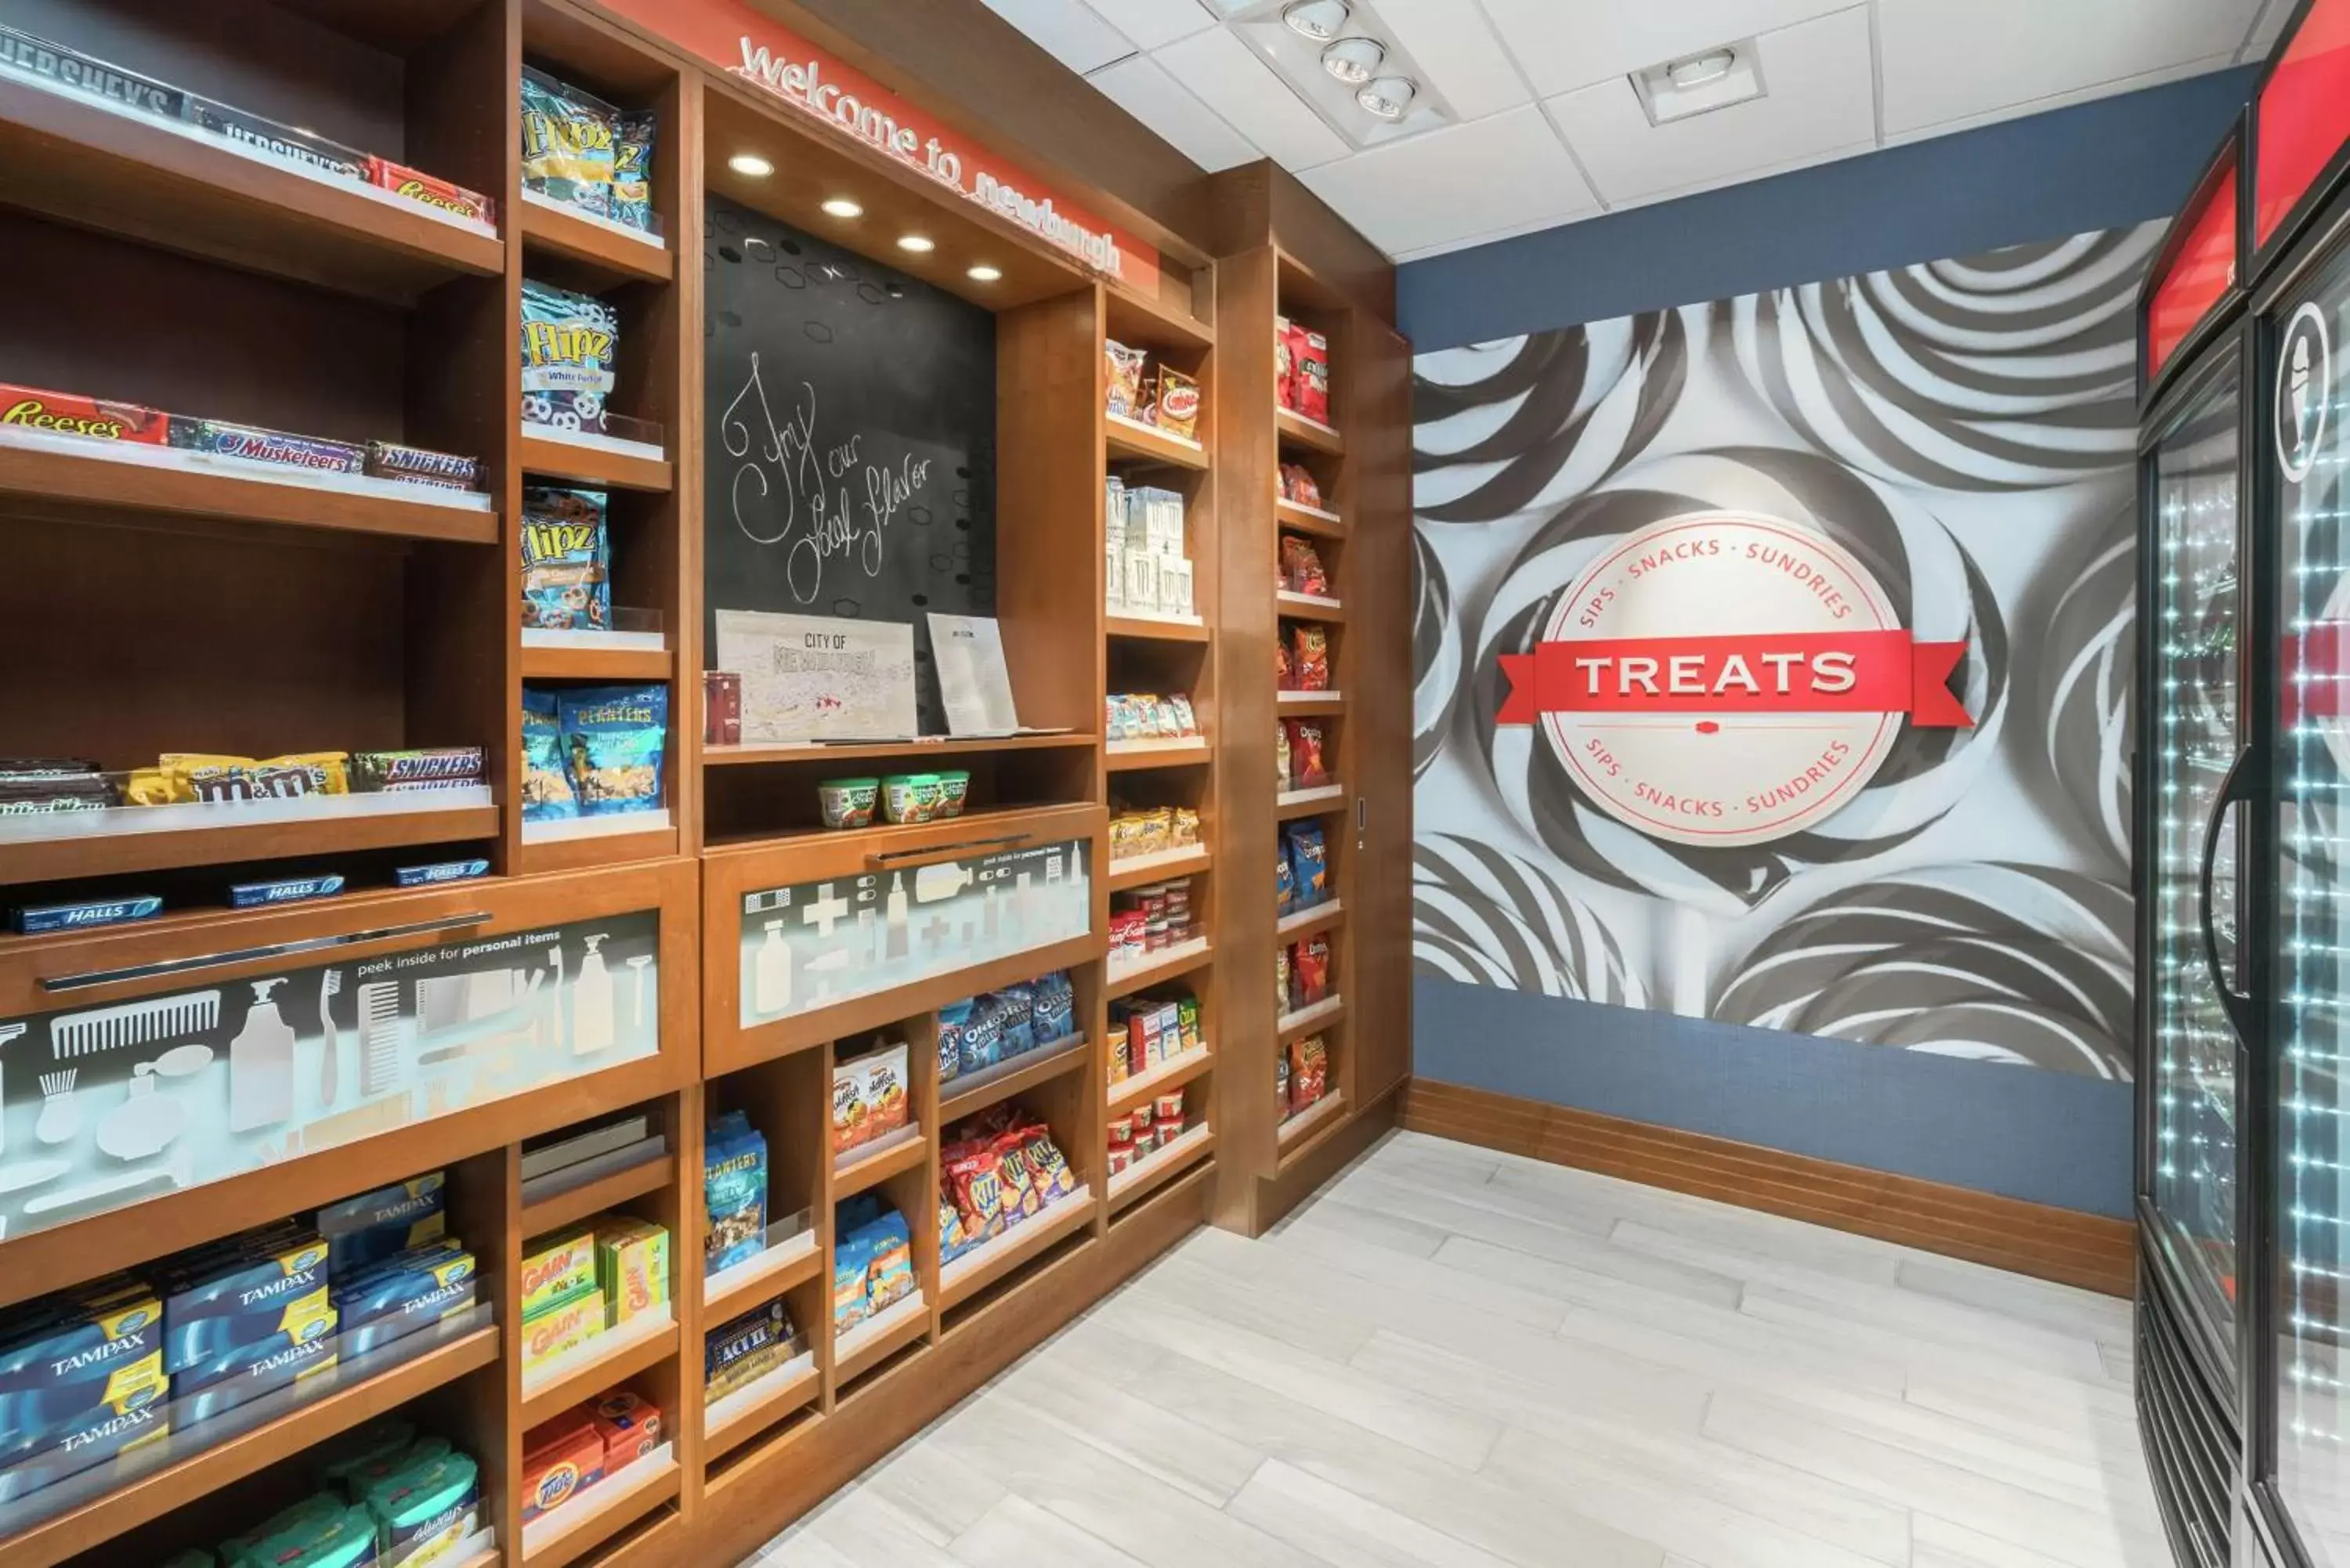
[[703, 233], [703, 646], [719, 609], [996, 614], [996, 317], [719, 195]]

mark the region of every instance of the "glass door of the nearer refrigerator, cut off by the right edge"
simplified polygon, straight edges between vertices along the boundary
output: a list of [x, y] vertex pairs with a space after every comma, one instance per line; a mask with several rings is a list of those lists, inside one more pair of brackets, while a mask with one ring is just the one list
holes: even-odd
[[2277, 1490], [2350, 1568], [2350, 256], [2277, 306], [2263, 444], [2277, 487]]

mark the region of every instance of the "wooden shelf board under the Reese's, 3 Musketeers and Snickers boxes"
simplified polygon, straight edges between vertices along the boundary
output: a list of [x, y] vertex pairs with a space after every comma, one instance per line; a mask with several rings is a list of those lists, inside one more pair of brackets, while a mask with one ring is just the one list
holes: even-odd
[[[5, 87], [5, 82], [0, 82]], [[5, 183], [0, 183], [5, 197]], [[489, 496], [212, 451], [0, 425], [0, 501], [139, 522], [235, 522], [388, 538], [498, 541]]]

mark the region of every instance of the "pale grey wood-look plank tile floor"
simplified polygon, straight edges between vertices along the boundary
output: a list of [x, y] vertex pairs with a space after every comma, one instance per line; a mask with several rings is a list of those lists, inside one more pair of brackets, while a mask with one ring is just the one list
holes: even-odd
[[2169, 1568], [2129, 1305], [1396, 1133], [771, 1568]]

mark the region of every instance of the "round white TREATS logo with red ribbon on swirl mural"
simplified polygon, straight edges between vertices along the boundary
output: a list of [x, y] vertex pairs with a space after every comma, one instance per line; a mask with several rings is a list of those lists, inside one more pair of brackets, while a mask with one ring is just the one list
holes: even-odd
[[1868, 785], [1901, 731], [1967, 729], [1962, 642], [1913, 642], [1833, 541], [1744, 512], [1629, 534], [1502, 656], [1502, 724], [1542, 724], [1617, 820], [1676, 844], [1765, 844]]

